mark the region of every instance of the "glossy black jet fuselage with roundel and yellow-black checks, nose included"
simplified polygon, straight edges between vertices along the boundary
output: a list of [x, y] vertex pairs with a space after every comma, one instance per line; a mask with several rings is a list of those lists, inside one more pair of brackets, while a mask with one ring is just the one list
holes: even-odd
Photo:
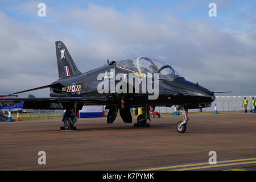
[[[109, 82], [108, 89], [104, 88], [105, 93], [99, 93], [98, 85], [104, 81], [98, 76], [105, 75], [105, 81]], [[126, 75], [127, 93], [117, 93], [117, 84], [121, 79], [116, 79], [117, 75]], [[133, 81], [129, 82], [129, 77], [133, 76]], [[125, 80], [124, 79], [124, 80]], [[141, 83], [136, 79], [141, 79]], [[121, 80], [121, 81], [120, 81]], [[108, 98], [102, 105], [118, 105], [121, 97], [125, 97], [125, 102], [130, 107], [138, 107], [144, 105], [150, 106], [172, 106], [182, 105], [188, 109], [195, 109], [199, 107], [209, 107], [211, 102], [215, 100], [213, 92], [185, 80], [184, 77], [178, 77], [175, 80], [159, 79], [158, 97], [156, 99], [148, 99], [149, 93], [147, 89], [143, 88], [142, 81], [146, 82], [146, 86], [150, 85], [154, 88], [154, 78], [148, 81], [148, 77], [143, 74], [138, 74], [127, 69], [117, 67], [117, 63], [106, 64], [100, 68], [92, 69], [88, 72], [82, 73], [79, 76], [70, 78], [60, 78], [56, 82], [63, 85], [61, 88], [50, 88], [51, 97], [105, 97]], [[146, 81], [147, 80], [147, 81]], [[112, 83], [111, 83], [112, 82]], [[152, 84], [153, 82], [153, 84]], [[114, 84], [113, 84], [114, 83]], [[114, 89], [113, 89], [114, 85]], [[133, 92], [129, 92], [129, 86], [133, 87]], [[144, 85], [145, 86], [145, 85]], [[139, 93], [135, 93], [135, 88], [139, 89]], [[72, 92], [73, 91], [73, 92]], [[98, 105], [98, 103], [96, 104]]]

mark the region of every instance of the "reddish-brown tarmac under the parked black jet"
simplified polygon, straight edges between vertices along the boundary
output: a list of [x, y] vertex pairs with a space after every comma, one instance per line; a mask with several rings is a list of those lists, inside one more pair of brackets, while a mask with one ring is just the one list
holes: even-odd
[[[57, 131], [63, 122], [0, 122], [0, 170], [256, 170], [256, 114], [191, 114], [151, 119], [133, 127], [117, 118], [79, 119], [77, 131]], [[46, 152], [46, 165], [38, 152]], [[217, 164], [209, 165], [209, 151]]]

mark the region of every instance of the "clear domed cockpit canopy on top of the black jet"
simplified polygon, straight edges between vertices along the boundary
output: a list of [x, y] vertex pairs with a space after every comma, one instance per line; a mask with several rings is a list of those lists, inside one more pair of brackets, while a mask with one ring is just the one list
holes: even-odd
[[164, 80], [175, 80], [176, 78], [182, 77], [170, 65], [148, 57], [118, 61], [117, 67], [147, 76], [149, 76], [148, 73], [151, 73], [153, 77], [155, 73], [159, 73], [159, 78]]

